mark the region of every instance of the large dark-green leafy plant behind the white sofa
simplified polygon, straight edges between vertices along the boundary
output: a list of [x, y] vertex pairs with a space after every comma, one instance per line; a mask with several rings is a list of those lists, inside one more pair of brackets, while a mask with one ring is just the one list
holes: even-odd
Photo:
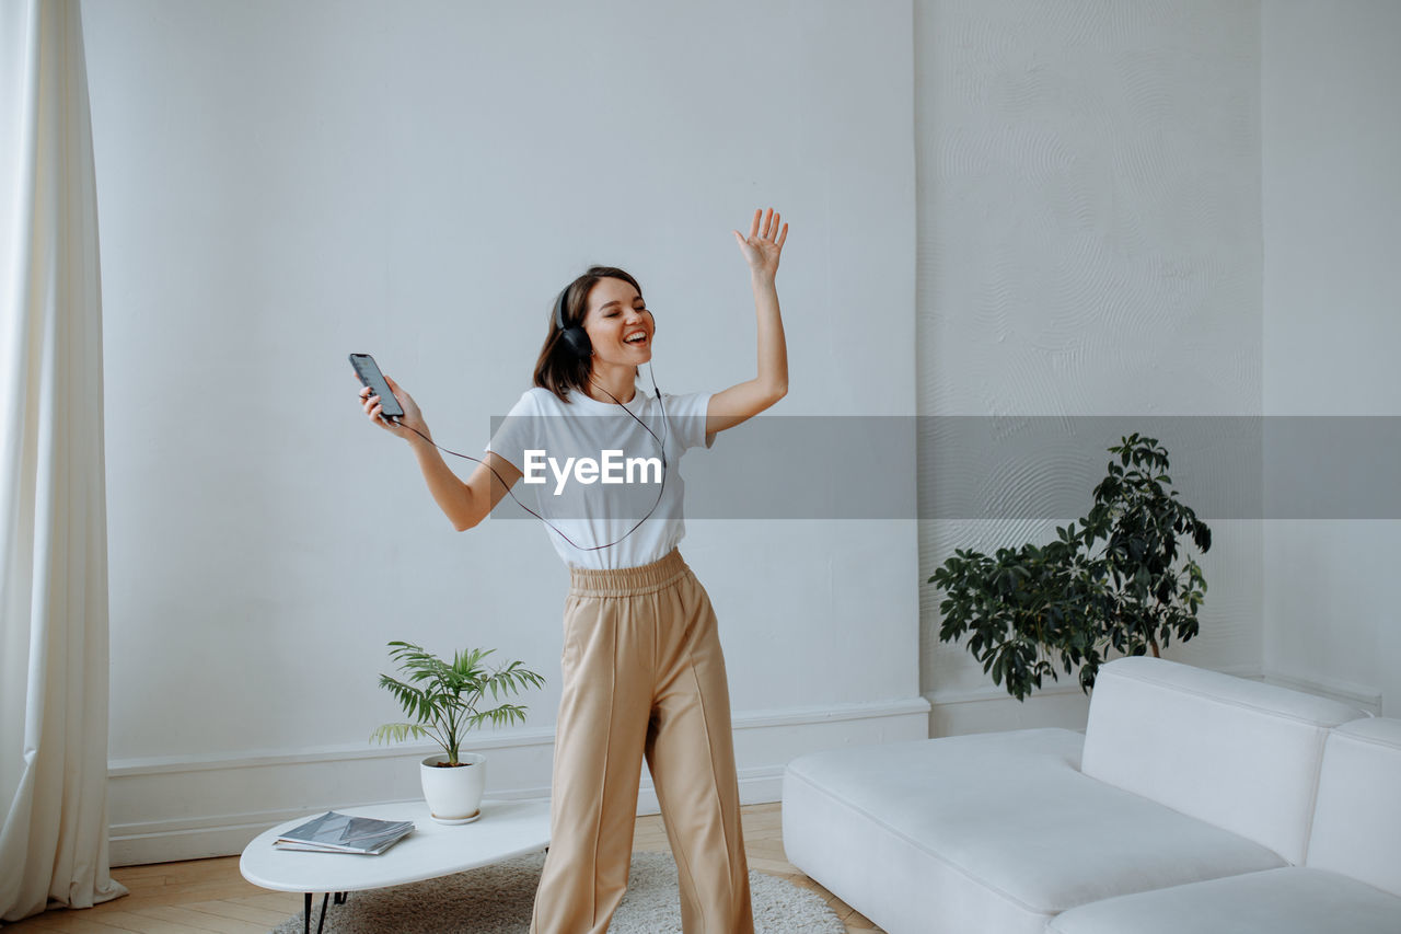
[[1111, 652], [1159, 655], [1173, 637], [1198, 634], [1206, 579], [1187, 553], [1205, 553], [1210, 529], [1168, 489], [1167, 450], [1156, 438], [1129, 435], [1094, 488], [1090, 515], [1056, 529], [1037, 547], [1000, 548], [993, 557], [955, 550], [929, 583], [939, 604], [941, 642], [967, 637], [968, 651], [995, 684], [1017, 700], [1070, 675], [1094, 686]]

